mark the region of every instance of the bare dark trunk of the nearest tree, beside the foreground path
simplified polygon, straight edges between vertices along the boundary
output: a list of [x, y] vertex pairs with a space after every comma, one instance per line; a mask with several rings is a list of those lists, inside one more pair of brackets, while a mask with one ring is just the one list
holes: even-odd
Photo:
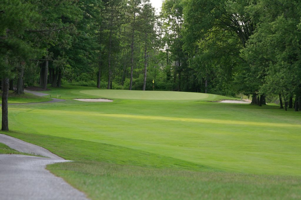
[[8, 89], [9, 89], [9, 79], [4, 78], [2, 82], [2, 131], [8, 131]]

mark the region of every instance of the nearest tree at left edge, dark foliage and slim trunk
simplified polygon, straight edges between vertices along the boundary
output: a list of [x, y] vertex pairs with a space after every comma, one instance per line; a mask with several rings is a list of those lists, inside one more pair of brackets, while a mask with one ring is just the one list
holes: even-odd
[[17, 62], [29, 62], [33, 56], [32, 42], [25, 31], [39, 19], [29, 2], [4, 0], [0, 2], [0, 78], [2, 82], [2, 130], [8, 131], [8, 89], [12, 68]]

